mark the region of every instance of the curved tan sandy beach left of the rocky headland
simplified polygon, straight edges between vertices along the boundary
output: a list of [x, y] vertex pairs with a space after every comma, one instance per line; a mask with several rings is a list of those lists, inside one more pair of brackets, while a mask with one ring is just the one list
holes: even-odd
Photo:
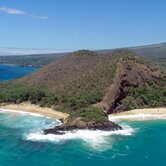
[[29, 104], [29, 103], [22, 103], [22, 104], [3, 104], [0, 105], [0, 110], [3, 110], [3, 112], [6, 110], [9, 112], [13, 110], [15, 113], [21, 113], [21, 112], [27, 112], [27, 113], [34, 113], [39, 114], [42, 116], [55, 118], [55, 119], [63, 119], [63, 121], [66, 121], [68, 114], [55, 111], [51, 108], [45, 108], [45, 107], [39, 107], [37, 105]]

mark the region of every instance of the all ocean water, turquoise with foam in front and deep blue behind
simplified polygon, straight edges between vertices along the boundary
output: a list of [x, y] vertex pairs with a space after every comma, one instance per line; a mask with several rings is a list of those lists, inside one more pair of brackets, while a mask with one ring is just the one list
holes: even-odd
[[[36, 69], [0, 65], [0, 80]], [[38, 114], [0, 111], [0, 166], [165, 166], [166, 121], [121, 121], [121, 131], [43, 135], [60, 122]]]

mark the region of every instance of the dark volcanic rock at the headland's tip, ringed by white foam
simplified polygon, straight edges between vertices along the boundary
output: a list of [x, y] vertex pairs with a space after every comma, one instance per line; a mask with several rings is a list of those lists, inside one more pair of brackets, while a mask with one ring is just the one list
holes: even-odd
[[83, 122], [80, 118], [76, 118], [73, 121], [67, 122], [62, 126], [58, 126], [52, 129], [45, 129], [45, 134], [57, 134], [62, 135], [65, 131], [72, 130], [102, 130], [102, 131], [115, 131], [122, 130], [123, 128], [114, 122], [106, 121], [106, 122]]

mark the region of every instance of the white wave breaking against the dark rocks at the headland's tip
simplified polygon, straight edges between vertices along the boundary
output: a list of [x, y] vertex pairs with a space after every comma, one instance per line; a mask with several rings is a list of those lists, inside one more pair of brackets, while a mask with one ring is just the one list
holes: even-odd
[[[116, 130], [116, 131], [101, 131], [101, 130], [75, 130], [75, 131], [67, 131], [63, 135], [54, 135], [54, 134], [43, 134], [42, 132], [30, 133], [25, 136], [25, 140], [29, 141], [40, 141], [40, 142], [54, 142], [61, 143], [70, 140], [82, 140], [88, 145], [94, 148], [100, 148], [101, 146], [108, 148], [110, 147], [110, 139], [113, 135], [125, 135], [130, 136], [134, 132], [129, 126], [123, 126], [124, 130]], [[109, 140], [109, 141], [108, 141]]]

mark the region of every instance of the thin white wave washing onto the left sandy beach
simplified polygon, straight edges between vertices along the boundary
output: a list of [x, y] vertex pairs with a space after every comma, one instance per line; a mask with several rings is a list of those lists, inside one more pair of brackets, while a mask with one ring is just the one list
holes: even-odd
[[10, 110], [10, 109], [1, 109], [0, 113], [17, 113], [21, 115], [30, 115], [30, 116], [37, 116], [37, 117], [44, 117], [43, 115], [40, 115], [38, 113], [31, 113], [31, 112], [24, 112], [24, 111], [18, 111], [18, 110]]

